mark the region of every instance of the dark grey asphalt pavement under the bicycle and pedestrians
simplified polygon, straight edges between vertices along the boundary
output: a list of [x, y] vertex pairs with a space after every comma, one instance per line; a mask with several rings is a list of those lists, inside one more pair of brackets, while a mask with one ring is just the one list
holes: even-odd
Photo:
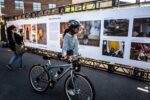
[[[64, 80], [60, 80], [54, 89], [48, 89], [44, 94], [35, 92], [29, 83], [29, 69], [34, 64], [46, 63], [42, 57], [25, 53], [23, 62], [26, 68], [18, 69], [16, 62], [12, 71], [5, 65], [12, 52], [0, 46], [0, 100], [67, 100], [64, 93]], [[64, 62], [52, 60], [52, 64]], [[117, 74], [108, 73], [92, 68], [82, 67], [82, 73], [92, 81], [95, 91], [95, 100], [150, 100], [150, 93], [138, 90], [147, 84], [135, 79]]]

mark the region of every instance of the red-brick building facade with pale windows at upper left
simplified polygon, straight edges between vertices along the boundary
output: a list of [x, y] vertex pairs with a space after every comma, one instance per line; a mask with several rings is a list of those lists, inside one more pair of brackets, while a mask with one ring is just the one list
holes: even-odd
[[67, 4], [72, 4], [72, 0], [0, 0], [1, 12], [5, 16], [19, 15]]

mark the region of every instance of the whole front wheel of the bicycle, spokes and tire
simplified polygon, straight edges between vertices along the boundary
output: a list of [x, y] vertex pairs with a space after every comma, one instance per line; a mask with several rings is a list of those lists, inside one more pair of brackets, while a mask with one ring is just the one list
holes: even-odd
[[69, 100], [95, 99], [95, 90], [91, 81], [79, 73], [66, 79], [64, 89]]

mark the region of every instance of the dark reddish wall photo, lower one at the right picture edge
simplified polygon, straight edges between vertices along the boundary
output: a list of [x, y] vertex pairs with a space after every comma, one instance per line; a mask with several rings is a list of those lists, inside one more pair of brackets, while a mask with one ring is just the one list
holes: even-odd
[[131, 43], [130, 59], [150, 62], [150, 43]]

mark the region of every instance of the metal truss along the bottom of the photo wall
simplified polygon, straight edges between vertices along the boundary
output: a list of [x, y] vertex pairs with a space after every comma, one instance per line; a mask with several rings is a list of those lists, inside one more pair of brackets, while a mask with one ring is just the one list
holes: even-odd
[[[49, 57], [53, 57], [54, 59], [59, 59], [58, 58], [59, 52], [37, 49], [32, 47], [27, 47], [27, 48], [29, 53], [33, 53], [40, 56], [49, 56]], [[130, 78], [146, 81], [146, 82], [150, 81], [150, 69], [142, 69], [136, 66], [123, 65], [123, 64], [95, 60], [95, 59], [85, 58], [85, 57], [82, 57], [79, 63], [89, 68], [104, 70], [110, 73], [116, 73]]]

